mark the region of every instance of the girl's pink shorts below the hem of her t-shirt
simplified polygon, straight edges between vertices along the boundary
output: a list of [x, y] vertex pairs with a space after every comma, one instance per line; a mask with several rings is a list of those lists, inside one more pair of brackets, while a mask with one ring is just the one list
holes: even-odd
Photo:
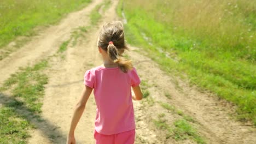
[[99, 134], [94, 130], [96, 144], [133, 144], [135, 141], [135, 129], [114, 135]]

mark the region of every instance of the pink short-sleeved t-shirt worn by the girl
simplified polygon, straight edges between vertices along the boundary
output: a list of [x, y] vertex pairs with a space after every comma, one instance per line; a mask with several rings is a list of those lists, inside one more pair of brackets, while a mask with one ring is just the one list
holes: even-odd
[[102, 66], [86, 71], [84, 85], [94, 88], [98, 133], [112, 135], [135, 129], [131, 86], [140, 82], [135, 68], [127, 73]]

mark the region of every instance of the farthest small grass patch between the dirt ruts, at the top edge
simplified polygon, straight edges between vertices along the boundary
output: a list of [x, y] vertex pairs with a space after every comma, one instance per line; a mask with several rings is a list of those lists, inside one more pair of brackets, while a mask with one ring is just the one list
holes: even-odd
[[100, 9], [106, 11], [110, 7], [111, 1], [106, 0], [101, 4], [96, 5], [96, 7], [90, 13], [91, 25], [97, 25], [97, 22], [101, 19], [102, 15], [100, 14]]

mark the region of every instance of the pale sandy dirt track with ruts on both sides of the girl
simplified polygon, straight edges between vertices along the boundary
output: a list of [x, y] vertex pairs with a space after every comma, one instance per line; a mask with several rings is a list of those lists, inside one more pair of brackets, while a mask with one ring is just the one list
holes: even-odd
[[[88, 14], [101, 1], [93, 1], [88, 7], [69, 14], [59, 25], [51, 26], [37, 37], [21, 47], [18, 51], [0, 61], [0, 85], [10, 74], [28, 63], [34, 64], [40, 59], [53, 55], [61, 43], [69, 37], [74, 28], [89, 26]], [[83, 88], [83, 75], [87, 69], [101, 64], [97, 52], [96, 40], [98, 29], [103, 22], [120, 20], [115, 14], [118, 1], [113, 0], [110, 8], [102, 16], [98, 26], [93, 26], [84, 38], [74, 47], [68, 46], [65, 59], [53, 57], [51, 67], [47, 70], [49, 82], [45, 88], [42, 118], [44, 122], [37, 124], [37, 129], [31, 131], [32, 137], [28, 143], [65, 143], [73, 107], [80, 97]], [[141, 79], [147, 81], [153, 105], [147, 101], [135, 101], [136, 143], [195, 143], [191, 140], [175, 141], [166, 139], [164, 132], [154, 127], [152, 119], [157, 119], [159, 113], [166, 113], [169, 123], [179, 118], [177, 113], [163, 109], [159, 101], [169, 103], [186, 115], [193, 117], [193, 126], [206, 137], [207, 143], [256, 143], [256, 130], [230, 118], [229, 113], [234, 107], [210, 93], [202, 93], [195, 87], [177, 77], [171, 77], [162, 71], [152, 59], [136, 52], [137, 47], [131, 47], [128, 55], [137, 68]], [[165, 97], [171, 95], [171, 99]], [[224, 104], [223, 104], [224, 103]], [[227, 110], [231, 109], [231, 110]], [[96, 105], [94, 95], [89, 98], [86, 110], [75, 131], [78, 143], [94, 143], [94, 118]]]

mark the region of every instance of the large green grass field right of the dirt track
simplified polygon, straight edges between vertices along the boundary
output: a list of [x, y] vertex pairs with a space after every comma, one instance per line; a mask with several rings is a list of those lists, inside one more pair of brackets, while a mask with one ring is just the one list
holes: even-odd
[[256, 1], [120, 1], [126, 39], [256, 125]]

